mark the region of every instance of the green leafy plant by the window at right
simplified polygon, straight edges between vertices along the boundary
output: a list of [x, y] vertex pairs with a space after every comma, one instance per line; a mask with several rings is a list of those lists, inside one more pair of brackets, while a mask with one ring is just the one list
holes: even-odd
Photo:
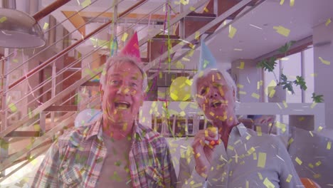
[[[287, 55], [287, 51], [289, 51], [292, 44], [295, 41], [290, 41], [285, 43], [284, 46], [281, 46], [277, 51], [279, 52], [277, 56], [283, 54], [284, 56]], [[277, 63], [277, 56], [273, 56], [270, 58], [263, 59], [259, 63], [257, 63], [257, 68], [263, 68], [264, 71], [273, 72], [277, 85], [275, 86], [274, 90], [269, 91], [269, 101], [280, 103], [282, 100], [285, 100], [285, 89], [289, 90], [292, 94], [295, 94], [294, 85], [299, 85], [302, 90], [307, 90], [307, 85], [305, 80], [302, 76], [297, 75], [296, 80], [288, 80], [287, 76], [280, 71], [280, 75], [277, 78], [277, 75], [274, 73], [275, 66]]]

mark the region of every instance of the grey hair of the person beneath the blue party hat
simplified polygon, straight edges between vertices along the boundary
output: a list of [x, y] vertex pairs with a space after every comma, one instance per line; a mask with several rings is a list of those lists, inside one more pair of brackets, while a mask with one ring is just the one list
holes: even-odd
[[193, 77], [193, 82], [192, 82], [192, 87], [191, 87], [191, 92], [192, 92], [192, 96], [194, 98], [194, 100], [196, 100], [196, 92], [197, 92], [197, 87], [198, 87], [198, 80], [199, 78], [203, 78], [204, 76], [208, 75], [209, 73], [221, 73], [222, 77], [224, 78], [224, 80], [226, 80], [226, 83], [228, 86], [230, 86], [234, 91], [235, 91], [235, 98], [237, 100], [237, 87], [236, 87], [236, 83], [233, 81], [233, 78], [231, 77], [231, 75], [226, 71], [226, 69], [220, 68], [206, 68], [203, 71], [199, 71], [198, 73], [196, 73]]

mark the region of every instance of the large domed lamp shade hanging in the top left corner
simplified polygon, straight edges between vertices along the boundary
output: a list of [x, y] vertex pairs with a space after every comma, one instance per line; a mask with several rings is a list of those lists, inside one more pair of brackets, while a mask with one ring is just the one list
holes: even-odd
[[0, 46], [37, 48], [45, 45], [43, 31], [35, 19], [15, 9], [0, 9]]

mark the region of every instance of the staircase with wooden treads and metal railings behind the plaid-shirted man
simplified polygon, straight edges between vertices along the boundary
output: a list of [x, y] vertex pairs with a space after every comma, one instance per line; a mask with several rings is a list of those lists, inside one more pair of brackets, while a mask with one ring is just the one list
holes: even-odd
[[[97, 1], [93, 1], [90, 6], [93, 6]], [[46, 9], [43, 9], [35, 16], [40, 19], [41, 16], [50, 14], [51, 11], [63, 6], [66, 2], [68, 1], [61, 1], [61, 3], [59, 1], [58, 4], [52, 4], [51, 6], [53, 7], [46, 7]], [[227, 6], [214, 6], [213, 2], [224, 2], [227, 3]], [[206, 37], [207, 40], [216, 37], [219, 31], [228, 27], [228, 24], [221, 26], [223, 21], [226, 19], [234, 21], [237, 19], [236, 15], [239, 17], [247, 14], [248, 11], [254, 9], [255, 6], [262, 2], [263, 0], [201, 0], [191, 5], [191, 7], [186, 7], [187, 9], [174, 14], [165, 28], [164, 26], [154, 28], [139, 41], [140, 51], [147, 51], [147, 57], [142, 58], [142, 62], [145, 65], [144, 70], [149, 71], [149, 69], [157, 68], [157, 66], [159, 66], [160, 70], [164, 70], [184, 56], [189, 56], [188, 54], [191, 51], [198, 48], [198, 41], [202, 34], [208, 35]], [[118, 7], [122, 3], [125, 3], [125, 1], [118, 1], [117, 4], [107, 7], [95, 19], [100, 18], [110, 9], [117, 12]], [[112, 44], [109, 41], [95, 41], [97, 45], [93, 51], [90, 50], [85, 54], [79, 54], [78, 51], [79, 49], [82, 50], [85, 43], [91, 41], [90, 38], [97, 38], [95, 36], [98, 33], [107, 30], [110, 24], [116, 26], [117, 23], [124, 21], [127, 15], [147, 3], [149, 3], [147, 0], [137, 1], [136, 4], [122, 11], [117, 16], [114, 15], [114, 21], [107, 21], [96, 28], [95, 31], [85, 33], [80, 40], [75, 41], [70, 46], [63, 46], [63, 50], [53, 56], [52, 54], [51, 56], [49, 55], [49, 48], [56, 46], [57, 43], [64, 43], [64, 40], [68, 40], [71, 34], [82, 31], [82, 28], [87, 23], [68, 33], [62, 40], [49, 43], [42, 51], [33, 52], [33, 55], [27, 60], [23, 58], [22, 63], [16, 63], [14, 68], [6, 67], [6, 64], [13, 64], [16, 61], [17, 54], [20, 52], [14, 51], [7, 54], [8, 56], [2, 62], [4, 65], [3, 70], [6, 70], [6, 73], [2, 78], [2, 83], [4, 84], [1, 85], [0, 90], [2, 102], [0, 127], [0, 172], [2, 173], [0, 182], [48, 150], [52, 142], [63, 132], [71, 130], [75, 116], [80, 109], [93, 108], [100, 105], [99, 93], [97, 92], [89, 93], [89, 100], [80, 103], [80, 106], [78, 106], [78, 100], [82, 94], [87, 92], [84, 86], [98, 86], [98, 83], [92, 80], [100, 75], [105, 59], [110, 56], [111, 49], [110, 47], [105, 48], [105, 46], [111, 46]], [[160, 6], [144, 15], [142, 19], [137, 20], [137, 23], [140, 23], [143, 19], [149, 19], [150, 15], [161, 11], [164, 6], [164, 2], [161, 2]], [[171, 8], [173, 9], [174, 7], [172, 6]], [[206, 7], [205, 11], [199, 14], [195, 13], [194, 10], [199, 9], [201, 6]], [[89, 6], [84, 7], [80, 11], [88, 8]], [[214, 9], [215, 12], [213, 12]], [[80, 11], [77, 14], [80, 14]], [[127, 28], [130, 29], [135, 26], [136, 23], [129, 23]], [[176, 33], [181, 33], [181, 35], [165, 35], [162, 33], [164, 30], [171, 29], [172, 26], [176, 27]], [[50, 28], [47, 32], [53, 29]], [[114, 34], [117, 38], [122, 38], [125, 32]], [[137, 32], [139, 33], [140, 31]], [[173, 43], [169, 43], [169, 46], [165, 45], [169, 41], [173, 41]], [[23, 70], [23, 76], [13, 81], [12, 76], [18, 70]], [[154, 78], [156, 75], [158, 75], [158, 72], [152, 74], [149, 79]], [[17, 91], [22, 90], [22, 88], [26, 93], [22, 93], [23, 96], [19, 96]], [[18, 95], [15, 96], [15, 101], [13, 100], [14, 94]], [[20, 144], [18, 145], [18, 143]], [[26, 162], [17, 167], [14, 172], [10, 174], [5, 173], [5, 169], [23, 161]]]

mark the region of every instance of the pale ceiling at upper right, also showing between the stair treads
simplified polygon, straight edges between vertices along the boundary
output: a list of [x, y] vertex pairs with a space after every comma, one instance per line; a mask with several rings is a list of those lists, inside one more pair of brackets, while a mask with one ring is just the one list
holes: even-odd
[[[197, 1], [199, 0], [190, 0], [186, 7], [195, 4]], [[42, 6], [47, 6], [51, 2], [52, 0], [43, 0]], [[118, 12], [122, 12], [136, 2], [134, 0], [122, 1]], [[164, 2], [165, 0], [149, 1], [133, 13], [147, 14], [154, 7], [160, 6]], [[175, 6], [174, 1], [172, 1], [172, 4]], [[85, 11], [101, 11], [102, 8], [105, 9], [107, 6], [110, 6], [110, 0], [100, 0], [93, 6], [89, 6], [89, 9]], [[312, 28], [325, 23], [327, 19], [333, 18], [332, 7], [332, 0], [295, 1], [293, 6], [290, 6], [290, 1], [285, 1], [284, 4], [280, 5], [280, 0], [266, 0], [252, 11], [239, 18], [236, 17], [236, 21], [231, 22], [231, 26], [237, 29], [233, 38], [228, 37], [229, 28], [225, 26], [218, 28], [216, 33], [213, 34], [214, 37], [206, 41], [206, 44], [213, 52], [218, 63], [230, 64], [239, 58], [255, 59], [265, 53], [275, 51], [287, 41], [300, 41], [302, 38], [312, 36]], [[65, 16], [61, 11], [78, 11], [79, 9], [82, 9], [82, 7], [78, 5], [78, 1], [70, 1], [70, 3], [54, 11], [53, 16], [58, 21], [62, 21]], [[165, 13], [160, 12], [160, 14], [164, 15]], [[75, 29], [75, 26], [70, 22], [63, 25], [68, 31]], [[277, 33], [275, 27], [279, 26], [290, 29], [289, 35], [282, 36]], [[81, 38], [80, 33], [74, 33], [75, 35]], [[197, 50], [200, 50], [200, 48]], [[190, 61], [184, 63], [185, 68], [194, 68], [198, 59], [199, 53], [194, 53]]]

